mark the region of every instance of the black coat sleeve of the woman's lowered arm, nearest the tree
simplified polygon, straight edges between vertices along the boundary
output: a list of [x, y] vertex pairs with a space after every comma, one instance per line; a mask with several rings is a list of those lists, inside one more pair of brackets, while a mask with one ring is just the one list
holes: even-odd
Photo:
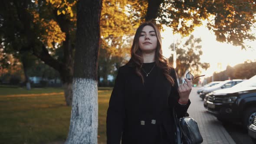
[[107, 111], [107, 144], [120, 144], [125, 119], [125, 77], [118, 69]]

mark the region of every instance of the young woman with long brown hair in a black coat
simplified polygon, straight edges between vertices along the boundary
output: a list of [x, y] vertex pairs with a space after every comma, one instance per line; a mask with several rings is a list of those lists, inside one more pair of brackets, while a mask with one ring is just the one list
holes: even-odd
[[174, 68], [162, 55], [157, 26], [138, 27], [131, 59], [118, 69], [107, 112], [107, 144], [174, 144], [174, 118], [190, 105], [191, 82], [178, 87]]

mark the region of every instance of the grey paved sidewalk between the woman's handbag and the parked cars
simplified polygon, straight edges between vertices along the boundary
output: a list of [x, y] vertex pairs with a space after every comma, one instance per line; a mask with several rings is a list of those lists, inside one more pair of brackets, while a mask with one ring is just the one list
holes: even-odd
[[203, 137], [202, 144], [236, 144], [222, 126], [222, 123], [203, 107], [203, 101], [197, 94], [197, 89], [193, 87], [190, 93], [191, 104], [188, 113], [198, 123]]

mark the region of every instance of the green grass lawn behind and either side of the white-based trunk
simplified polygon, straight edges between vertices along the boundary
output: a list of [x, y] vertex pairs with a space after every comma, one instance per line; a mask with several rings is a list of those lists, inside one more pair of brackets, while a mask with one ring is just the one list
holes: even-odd
[[[0, 144], [65, 141], [71, 107], [64, 95], [8, 96], [63, 92], [61, 88], [0, 88]], [[98, 143], [106, 142], [106, 112], [112, 88], [98, 90]]]

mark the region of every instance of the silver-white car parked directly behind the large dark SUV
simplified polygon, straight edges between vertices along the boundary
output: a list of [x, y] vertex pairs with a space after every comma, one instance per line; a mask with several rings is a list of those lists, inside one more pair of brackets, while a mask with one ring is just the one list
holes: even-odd
[[204, 90], [202, 92], [200, 92], [200, 98], [202, 98], [202, 100], [204, 99], [205, 95], [207, 95], [210, 92], [219, 90], [219, 89], [224, 89], [224, 88], [231, 88], [234, 85], [239, 84], [240, 82], [243, 82], [243, 79], [233, 79], [233, 80], [226, 80], [223, 82], [220, 82], [217, 85], [213, 85], [211, 87], [208, 88], [204, 88]]

